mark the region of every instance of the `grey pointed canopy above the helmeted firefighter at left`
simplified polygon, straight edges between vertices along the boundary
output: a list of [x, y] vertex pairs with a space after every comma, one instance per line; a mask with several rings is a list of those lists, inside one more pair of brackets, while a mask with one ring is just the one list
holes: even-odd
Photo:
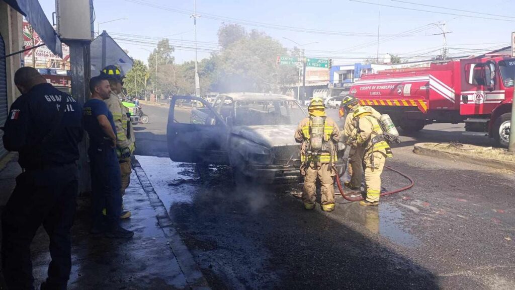
[[[105, 36], [105, 38], [103, 37]], [[134, 64], [125, 51], [104, 31], [101, 35], [95, 38], [90, 45], [91, 50], [91, 76], [97, 76], [102, 70], [102, 41], [106, 40], [105, 63], [106, 66], [114, 65], [122, 70], [125, 75]]]

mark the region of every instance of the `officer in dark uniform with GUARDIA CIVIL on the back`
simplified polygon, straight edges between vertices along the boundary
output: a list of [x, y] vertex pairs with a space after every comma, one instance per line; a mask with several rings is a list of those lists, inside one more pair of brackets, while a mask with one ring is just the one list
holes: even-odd
[[48, 278], [41, 289], [65, 289], [70, 278], [82, 109], [34, 68], [14, 74], [22, 95], [5, 123], [4, 146], [18, 151], [23, 173], [2, 214], [2, 266], [9, 289], [33, 289], [30, 243], [43, 224], [50, 238]]

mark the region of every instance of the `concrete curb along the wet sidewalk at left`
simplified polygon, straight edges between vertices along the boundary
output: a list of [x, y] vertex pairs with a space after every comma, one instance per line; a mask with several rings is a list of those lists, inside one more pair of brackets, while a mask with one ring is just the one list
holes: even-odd
[[207, 280], [205, 280], [200, 268], [193, 259], [193, 255], [190, 253], [186, 245], [182, 242], [181, 237], [174, 228], [174, 224], [171, 221], [168, 211], [164, 206], [163, 202], [159, 199], [157, 192], [152, 187], [148, 176], [141, 167], [138, 160], [132, 161], [134, 172], [150, 200], [150, 205], [154, 209], [157, 215], [159, 226], [163, 230], [165, 236], [169, 240], [169, 246], [171, 251], [176, 256], [177, 262], [186, 278], [187, 283], [192, 289], [196, 290], [208, 290], [211, 289]]

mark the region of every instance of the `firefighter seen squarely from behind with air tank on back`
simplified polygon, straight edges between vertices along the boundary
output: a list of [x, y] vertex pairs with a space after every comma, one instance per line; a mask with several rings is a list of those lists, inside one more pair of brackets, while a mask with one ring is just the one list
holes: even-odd
[[295, 140], [301, 145], [302, 165], [300, 172], [304, 175], [302, 201], [307, 210], [315, 207], [316, 181], [321, 183], [322, 210], [334, 210], [334, 176], [336, 176], [336, 146], [340, 131], [336, 122], [325, 116], [324, 102], [313, 98], [307, 107], [310, 114], [297, 128]]

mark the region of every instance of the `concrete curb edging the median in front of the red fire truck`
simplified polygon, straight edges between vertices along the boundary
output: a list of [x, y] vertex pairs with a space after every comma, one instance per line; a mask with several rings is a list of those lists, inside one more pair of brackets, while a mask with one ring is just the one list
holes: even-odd
[[496, 169], [506, 169], [515, 172], [515, 162], [512, 162], [510, 160], [492, 159], [484, 156], [471, 155], [460, 152], [448, 152], [439, 150], [438, 147], [428, 148], [423, 144], [427, 143], [416, 143], [413, 149], [413, 153], [443, 159], [458, 159], [462, 162], [472, 163], [481, 166], [488, 166]]

